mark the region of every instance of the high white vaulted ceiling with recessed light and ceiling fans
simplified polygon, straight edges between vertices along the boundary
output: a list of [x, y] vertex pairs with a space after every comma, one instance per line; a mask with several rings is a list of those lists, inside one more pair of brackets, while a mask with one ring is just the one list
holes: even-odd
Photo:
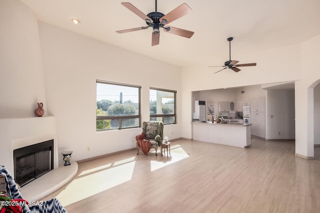
[[[46, 22], [178, 66], [222, 65], [232, 56], [299, 43], [320, 34], [320, 0], [157, 0], [164, 14], [182, 3], [192, 11], [169, 23], [194, 31], [184, 38], [160, 29], [160, 44], [151, 46], [152, 29], [118, 34], [145, 26], [121, 0], [21, 0]], [[129, 0], [147, 14], [154, 0]], [[77, 18], [80, 24], [73, 24]], [[241, 61], [249, 63], [253, 61]]]

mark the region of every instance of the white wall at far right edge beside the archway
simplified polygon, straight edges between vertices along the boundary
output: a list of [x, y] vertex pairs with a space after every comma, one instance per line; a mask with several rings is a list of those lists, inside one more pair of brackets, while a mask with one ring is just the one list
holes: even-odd
[[[320, 58], [320, 35], [301, 43], [301, 80], [295, 82], [295, 153], [314, 156], [313, 88], [319, 83], [320, 71], [313, 61]], [[301, 121], [306, 122], [301, 122]]]

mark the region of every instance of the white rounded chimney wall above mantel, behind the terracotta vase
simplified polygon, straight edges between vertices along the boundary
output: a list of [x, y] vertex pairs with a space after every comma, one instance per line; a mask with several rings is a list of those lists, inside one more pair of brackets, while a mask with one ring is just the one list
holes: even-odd
[[36, 17], [19, 0], [0, 2], [0, 118], [35, 117], [46, 100]]

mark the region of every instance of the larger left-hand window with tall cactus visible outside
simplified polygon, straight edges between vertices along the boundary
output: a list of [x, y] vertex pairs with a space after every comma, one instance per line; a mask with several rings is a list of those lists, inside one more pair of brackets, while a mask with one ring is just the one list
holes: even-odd
[[141, 86], [96, 81], [96, 131], [140, 127]]

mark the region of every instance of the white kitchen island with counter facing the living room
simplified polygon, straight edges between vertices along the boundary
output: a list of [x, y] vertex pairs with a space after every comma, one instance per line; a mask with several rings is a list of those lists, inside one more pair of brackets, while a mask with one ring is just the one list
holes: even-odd
[[192, 139], [247, 148], [251, 144], [251, 124], [192, 122]]

